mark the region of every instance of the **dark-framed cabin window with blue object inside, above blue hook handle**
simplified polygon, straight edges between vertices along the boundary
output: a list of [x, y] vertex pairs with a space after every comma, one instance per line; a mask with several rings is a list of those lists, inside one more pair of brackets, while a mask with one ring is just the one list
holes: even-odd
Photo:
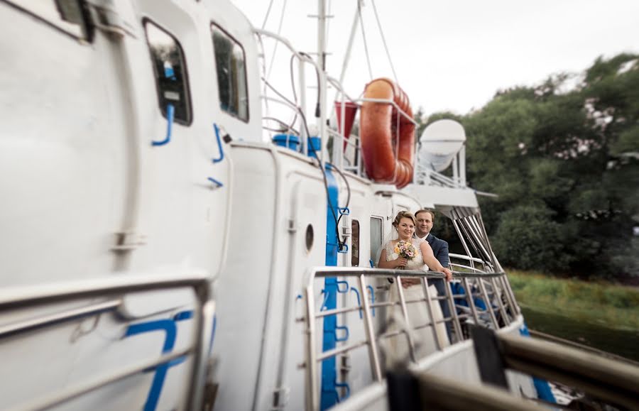
[[173, 105], [174, 121], [188, 125], [191, 123], [191, 107], [182, 46], [173, 35], [151, 21], [144, 22], [144, 29], [162, 115], [166, 117], [167, 107]]

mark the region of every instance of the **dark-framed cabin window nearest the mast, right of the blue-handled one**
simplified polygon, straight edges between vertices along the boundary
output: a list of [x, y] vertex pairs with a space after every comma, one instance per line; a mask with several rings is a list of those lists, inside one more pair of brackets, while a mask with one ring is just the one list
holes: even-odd
[[249, 121], [249, 94], [246, 86], [244, 49], [234, 38], [212, 24], [213, 50], [217, 68], [219, 104], [222, 110]]

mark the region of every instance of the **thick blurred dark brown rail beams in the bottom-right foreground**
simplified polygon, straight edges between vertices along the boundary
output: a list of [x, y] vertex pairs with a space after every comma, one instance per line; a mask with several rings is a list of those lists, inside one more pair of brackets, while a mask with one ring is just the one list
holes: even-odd
[[[590, 403], [584, 404], [589, 410], [639, 410], [639, 367], [631, 362], [541, 339], [494, 334], [486, 329], [472, 329], [471, 334], [476, 353], [484, 354], [476, 355], [484, 385], [464, 384], [429, 371], [393, 373], [388, 377], [391, 409], [393, 398], [428, 410], [532, 411], [558, 407], [535, 398], [545, 405], [540, 407], [510, 395], [506, 378], [506, 370], [510, 369], [585, 393]], [[579, 402], [562, 408], [582, 409]]]

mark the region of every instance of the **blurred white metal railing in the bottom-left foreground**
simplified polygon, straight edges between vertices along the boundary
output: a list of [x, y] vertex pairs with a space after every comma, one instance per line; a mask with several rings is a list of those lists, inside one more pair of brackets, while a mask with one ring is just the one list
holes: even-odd
[[207, 350], [212, 334], [214, 302], [209, 295], [209, 278], [205, 275], [181, 275], [158, 279], [157, 276], [140, 276], [129, 278], [107, 278], [102, 280], [87, 280], [76, 283], [59, 283], [55, 285], [40, 285], [34, 287], [19, 287], [4, 289], [0, 293], [0, 313], [13, 312], [18, 309], [31, 309], [43, 305], [59, 304], [98, 297], [101, 302], [95, 302], [80, 308], [72, 308], [40, 315], [39, 317], [22, 319], [18, 322], [0, 326], [0, 342], [10, 336], [33, 332], [38, 329], [53, 327], [56, 324], [75, 321], [77, 319], [93, 317], [104, 312], [115, 312], [123, 304], [124, 295], [131, 292], [146, 292], [155, 290], [170, 290], [177, 288], [191, 288], [194, 291], [197, 308], [194, 311], [195, 329], [192, 344], [185, 349], [164, 354], [153, 360], [147, 360], [119, 371], [100, 376], [93, 380], [58, 390], [43, 398], [34, 398], [28, 404], [21, 405], [20, 410], [48, 410], [69, 400], [90, 393], [105, 385], [123, 380], [129, 376], [143, 373], [148, 369], [158, 367], [171, 361], [192, 356], [193, 367], [188, 381], [189, 393], [185, 395], [185, 410], [200, 410], [202, 407]]

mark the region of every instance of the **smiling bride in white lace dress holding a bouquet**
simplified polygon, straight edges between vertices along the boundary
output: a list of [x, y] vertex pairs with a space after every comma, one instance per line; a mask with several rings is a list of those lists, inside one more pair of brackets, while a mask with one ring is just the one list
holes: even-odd
[[[397, 217], [395, 217], [395, 221], [393, 221], [393, 227], [395, 227], [395, 230], [398, 233], [398, 239], [386, 241], [384, 244], [379, 256], [379, 268], [439, 271], [446, 275], [447, 281], [452, 279], [451, 270], [444, 268], [442, 264], [437, 261], [437, 258], [435, 258], [435, 255], [432, 253], [430, 244], [427, 241], [413, 238], [413, 234], [415, 233], [415, 216], [413, 216], [413, 214], [404, 211], [399, 212]], [[413, 243], [416, 253], [412, 259], [409, 260], [408, 258], [399, 256], [398, 248], [395, 248], [399, 241]], [[425, 297], [421, 280], [419, 278], [402, 278], [401, 283], [404, 289], [403, 295], [405, 301], [419, 300]], [[439, 307], [437, 300], [434, 300], [434, 298], [437, 297], [437, 290], [435, 290], [435, 286], [431, 285], [428, 293], [433, 299], [430, 304], [430, 311], [432, 312], [435, 321], [442, 320], [442, 309]], [[391, 287], [391, 302], [398, 301], [399, 297], [397, 287], [393, 286]], [[432, 326], [420, 327], [430, 322], [425, 302], [408, 302], [406, 304], [406, 310], [408, 312], [408, 325], [411, 328], [419, 328], [412, 332], [413, 344], [415, 346], [415, 357], [420, 358], [435, 352], [435, 350], [437, 350], [437, 346], [435, 345], [435, 336], [433, 335]], [[395, 309], [391, 309], [390, 312], [391, 315], [388, 316], [389, 319], [392, 317], [396, 323], [399, 318], [399, 321], [403, 322], [400, 305], [395, 305]], [[445, 324], [443, 322], [437, 324], [436, 329], [437, 332], [435, 334], [437, 335], [439, 346], [443, 348], [444, 346], [449, 345]], [[408, 341], [405, 335], [400, 334], [398, 336], [391, 337], [390, 342], [392, 348], [391, 353], [396, 356], [394, 361], [408, 357]], [[388, 358], [388, 360], [389, 365], [394, 362], [391, 358]]]

